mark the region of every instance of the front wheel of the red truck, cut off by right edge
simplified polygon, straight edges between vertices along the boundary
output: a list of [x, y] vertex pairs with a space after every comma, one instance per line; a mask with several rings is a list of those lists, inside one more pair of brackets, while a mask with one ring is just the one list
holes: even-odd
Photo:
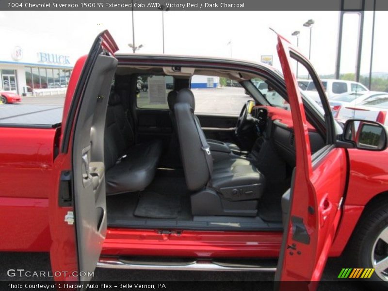
[[375, 269], [371, 278], [361, 279], [362, 282], [372, 288], [387, 290], [388, 263], [384, 262], [388, 262], [388, 201], [375, 202], [379, 203], [368, 206], [356, 226], [348, 244], [347, 257], [351, 263], [349, 267]]

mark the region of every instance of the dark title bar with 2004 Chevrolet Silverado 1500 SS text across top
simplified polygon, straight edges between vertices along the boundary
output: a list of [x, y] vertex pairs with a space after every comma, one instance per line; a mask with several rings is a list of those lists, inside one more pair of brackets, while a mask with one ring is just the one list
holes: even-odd
[[[374, 0], [0, 0], [3, 11], [158, 10], [176, 11], [323, 11], [373, 10]], [[342, 3], [343, 2], [343, 3]], [[342, 6], [343, 5], [343, 6]], [[376, 0], [376, 10], [388, 10], [387, 0]]]

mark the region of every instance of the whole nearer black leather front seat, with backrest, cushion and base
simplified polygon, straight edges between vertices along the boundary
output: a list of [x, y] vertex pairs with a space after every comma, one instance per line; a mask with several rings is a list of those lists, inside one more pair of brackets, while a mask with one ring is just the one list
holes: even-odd
[[213, 162], [194, 108], [191, 90], [180, 90], [174, 113], [192, 214], [256, 216], [264, 176], [245, 159]]

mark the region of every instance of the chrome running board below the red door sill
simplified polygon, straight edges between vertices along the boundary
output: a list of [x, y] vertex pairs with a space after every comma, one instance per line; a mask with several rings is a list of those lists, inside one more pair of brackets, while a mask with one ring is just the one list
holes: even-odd
[[238, 262], [223, 262], [211, 259], [188, 259], [172, 261], [155, 261], [150, 259], [131, 260], [119, 257], [100, 257], [98, 268], [107, 269], [136, 269], [136, 270], [187, 270], [187, 271], [259, 271], [259, 272], [275, 272], [276, 264], [256, 264], [256, 263], [238, 263]]

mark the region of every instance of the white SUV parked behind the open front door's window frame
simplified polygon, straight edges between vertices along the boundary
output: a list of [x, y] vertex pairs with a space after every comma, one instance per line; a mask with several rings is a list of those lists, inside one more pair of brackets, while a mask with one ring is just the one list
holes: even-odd
[[[368, 88], [365, 87], [363, 84], [354, 81], [322, 79], [321, 82], [326, 92], [326, 96], [329, 100], [332, 97], [345, 92], [369, 91]], [[308, 97], [312, 98], [316, 102], [321, 102], [314, 82], [308, 83], [305, 93]]]

